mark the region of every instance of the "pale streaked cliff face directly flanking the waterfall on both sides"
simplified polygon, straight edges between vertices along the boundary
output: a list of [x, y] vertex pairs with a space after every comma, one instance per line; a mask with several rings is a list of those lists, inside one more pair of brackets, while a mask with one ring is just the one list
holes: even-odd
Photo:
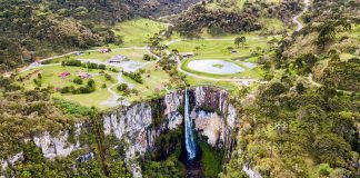
[[[237, 127], [237, 110], [230, 103], [228, 92], [219, 88], [197, 87], [188, 89], [190, 96], [191, 119], [194, 129], [208, 138], [212, 147], [226, 149], [230, 156]], [[103, 116], [104, 135], [113, 135], [119, 140], [128, 140], [127, 160], [154, 149], [156, 138], [164, 130], [172, 130], [183, 122], [184, 91], [173, 91], [157, 101], [136, 103], [119, 108]], [[161, 122], [154, 126], [153, 119]], [[138, 155], [137, 155], [138, 154]], [[132, 165], [134, 177], [140, 177], [140, 168]]]

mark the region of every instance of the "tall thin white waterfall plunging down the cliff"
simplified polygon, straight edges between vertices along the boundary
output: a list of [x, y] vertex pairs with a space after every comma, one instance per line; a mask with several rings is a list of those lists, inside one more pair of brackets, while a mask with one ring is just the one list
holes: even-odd
[[184, 135], [186, 135], [186, 147], [188, 152], [188, 160], [192, 160], [197, 156], [197, 148], [193, 140], [192, 134], [192, 121], [189, 116], [189, 96], [188, 90], [186, 89], [186, 99], [184, 99]]

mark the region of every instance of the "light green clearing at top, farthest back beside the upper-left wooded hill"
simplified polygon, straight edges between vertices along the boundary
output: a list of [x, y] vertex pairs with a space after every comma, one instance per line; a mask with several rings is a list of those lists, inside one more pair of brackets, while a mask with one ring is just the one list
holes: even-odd
[[119, 22], [113, 31], [116, 34], [123, 36], [123, 47], [144, 47], [149, 38], [164, 30], [164, 23], [150, 19], [134, 19]]

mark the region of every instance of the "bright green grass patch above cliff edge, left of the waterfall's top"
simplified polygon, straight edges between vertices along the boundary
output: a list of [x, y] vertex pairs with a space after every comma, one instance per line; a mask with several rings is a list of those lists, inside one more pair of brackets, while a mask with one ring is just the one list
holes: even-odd
[[[170, 76], [158, 67], [157, 63], [148, 65], [144, 70], [146, 73], [141, 75], [143, 83], [138, 83], [130, 79], [129, 77], [122, 76], [123, 79], [133, 85], [134, 89], [139, 91], [139, 95], [130, 95], [127, 97], [130, 101], [139, 101], [147, 98], [153, 98], [166, 92], [166, 85], [170, 81]], [[113, 88], [113, 90], [117, 90]], [[121, 92], [119, 92], [122, 95]]]

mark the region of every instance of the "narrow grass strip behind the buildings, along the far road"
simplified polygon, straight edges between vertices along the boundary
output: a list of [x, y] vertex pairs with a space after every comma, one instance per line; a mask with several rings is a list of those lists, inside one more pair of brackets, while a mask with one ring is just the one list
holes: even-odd
[[149, 55], [149, 52], [146, 49], [112, 49], [109, 53], [100, 53], [98, 51], [96, 52], [86, 52], [82, 56], [77, 57], [77, 59], [96, 59], [99, 61], [106, 62], [107, 60], [116, 57], [116, 56], [124, 56], [130, 60], [136, 60], [139, 62], [144, 62], [142, 60], [144, 55]]

